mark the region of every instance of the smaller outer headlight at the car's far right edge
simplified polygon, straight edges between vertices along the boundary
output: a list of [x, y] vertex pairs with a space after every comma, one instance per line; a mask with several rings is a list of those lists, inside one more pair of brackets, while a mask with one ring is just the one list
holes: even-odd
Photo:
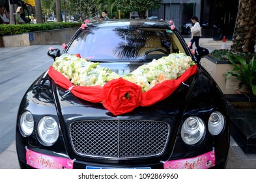
[[224, 116], [218, 112], [212, 112], [208, 120], [208, 130], [212, 135], [219, 135], [224, 127]]

